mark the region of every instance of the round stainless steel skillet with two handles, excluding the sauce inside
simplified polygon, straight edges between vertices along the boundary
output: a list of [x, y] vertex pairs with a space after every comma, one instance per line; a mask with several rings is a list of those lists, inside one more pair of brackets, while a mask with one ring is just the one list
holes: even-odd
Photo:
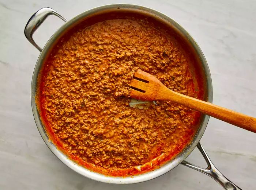
[[[49, 149], [53, 152], [54, 155], [57, 156], [68, 167], [70, 167], [72, 170], [78, 172], [79, 174], [94, 179], [96, 181], [101, 181], [105, 183], [116, 183], [116, 184], [129, 184], [129, 183], [139, 183], [148, 181], [150, 179], [157, 178], [166, 172], [172, 170], [174, 167], [176, 167], [178, 164], [183, 164], [184, 166], [188, 166], [190, 168], [193, 168], [195, 170], [198, 170], [200, 172], [203, 172], [206, 175], [209, 175], [215, 181], [217, 181], [224, 189], [228, 190], [236, 190], [240, 189], [234, 183], [230, 182], [226, 177], [224, 177], [217, 168], [211, 163], [210, 159], [208, 158], [208, 155], [204, 151], [204, 148], [200, 144], [199, 140], [203, 136], [204, 130], [206, 129], [209, 116], [203, 115], [200, 119], [200, 126], [198, 128], [198, 131], [196, 132], [195, 136], [193, 137], [193, 140], [190, 144], [188, 144], [182, 152], [180, 152], [178, 155], [175, 156], [174, 159], [170, 160], [160, 168], [147, 172], [145, 174], [141, 175], [135, 175], [133, 178], [131, 177], [109, 177], [105, 176], [90, 170], [87, 170], [83, 166], [80, 166], [78, 163], [73, 162], [70, 160], [63, 152], [61, 152], [49, 139], [48, 135], [46, 134], [45, 128], [42, 124], [42, 121], [40, 119], [37, 105], [35, 104], [35, 93], [37, 92], [37, 81], [39, 77], [40, 70], [42, 68], [42, 65], [44, 63], [44, 60], [46, 58], [47, 53], [49, 50], [54, 46], [54, 44], [57, 42], [58, 39], [61, 38], [65, 32], [71, 28], [76, 26], [79, 22], [84, 20], [85, 18], [89, 16], [93, 16], [95, 14], [99, 14], [101, 12], [105, 11], [132, 11], [137, 12], [139, 14], [148, 15], [154, 18], [157, 18], [161, 20], [161, 22], [164, 22], [168, 24], [172, 29], [181, 36], [182, 39], [184, 39], [184, 43], [186, 43], [193, 56], [195, 57], [197, 67], [200, 70], [200, 73], [202, 74], [203, 80], [204, 80], [204, 91], [205, 96], [204, 100], [212, 102], [212, 81], [211, 81], [211, 75], [210, 71], [206, 62], [206, 59], [204, 58], [204, 55], [198, 46], [198, 44], [195, 42], [195, 40], [191, 37], [191, 35], [188, 34], [187, 31], [184, 30], [177, 22], [169, 18], [168, 16], [155, 11], [150, 8], [138, 6], [138, 5], [131, 5], [131, 4], [112, 4], [112, 5], [105, 5], [102, 7], [96, 7], [93, 9], [90, 9], [89, 11], [85, 11], [74, 18], [67, 20], [63, 16], [61, 16], [58, 12], [54, 11], [51, 8], [45, 7], [37, 11], [26, 24], [25, 27], [25, 36], [26, 38], [41, 52], [41, 54], [38, 57], [38, 60], [35, 64], [35, 69], [32, 77], [31, 82], [31, 105], [33, 110], [33, 115], [35, 119], [35, 123], [37, 125], [37, 128], [44, 139], [46, 145], [49, 147]], [[55, 15], [62, 19], [65, 23], [63, 26], [61, 26], [48, 40], [48, 42], [45, 44], [44, 48], [41, 49], [33, 40], [32, 35], [37, 30], [37, 28], [44, 22], [44, 20], [49, 15]], [[200, 168], [198, 166], [195, 166], [191, 163], [188, 163], [185, 161], [185, 158], [193, 151], [193, 149], [197, 146], [197, 148], [202, 153], [204, 159], [207, 162], [208, 167], [207, 168]]]

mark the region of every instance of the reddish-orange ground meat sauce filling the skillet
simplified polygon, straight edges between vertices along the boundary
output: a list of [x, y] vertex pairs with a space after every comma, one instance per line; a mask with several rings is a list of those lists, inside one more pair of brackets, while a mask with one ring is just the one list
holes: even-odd
[[149, 16], [112, 12], [84, 20], [55, 44], [39, 77], [37, 106], [50, 140], [105, 175], [161, 166], [191, 141], [200, 113], [169, 101], [131, 107], [129, 83], [140, 69], [202, 99], [193, 65], [175, 32]]

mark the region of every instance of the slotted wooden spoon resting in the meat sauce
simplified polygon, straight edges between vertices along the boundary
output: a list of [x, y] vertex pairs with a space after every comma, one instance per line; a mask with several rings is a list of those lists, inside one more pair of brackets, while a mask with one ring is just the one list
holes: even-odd
[[138, 70], [133, 75], [130, 96], [138, 100], [176, 102], [256, 133], [256, 118], [174, 92], [163, 85], [156, 77], [142, 70]]

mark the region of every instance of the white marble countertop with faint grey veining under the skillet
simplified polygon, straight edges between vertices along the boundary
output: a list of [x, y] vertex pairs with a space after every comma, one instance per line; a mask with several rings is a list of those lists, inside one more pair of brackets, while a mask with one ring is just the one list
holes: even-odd
[[[0, 0], [0, 189], [197, 190], [222, 189], [210, 177], [177, 166], [134, 185], [96, 182], [72, 171], [50, 152], [36, 128], [30, 84], [39, 52], [25, 38], [30, 16], [51, 7], [67, 19], [111, 3], [154, 8], [181, 24], [201, 47], [210, 67], [213, 102], [256, 117], [256, 2], [167, 0]], [[50, 16], [35, 33], [43, 46], [63, 24]], [[242, 189], [256, 188], [256, 134], [211, 118], [201, 143], [215, 166]], [[205, 166], [198, 150], [188, 161]]]

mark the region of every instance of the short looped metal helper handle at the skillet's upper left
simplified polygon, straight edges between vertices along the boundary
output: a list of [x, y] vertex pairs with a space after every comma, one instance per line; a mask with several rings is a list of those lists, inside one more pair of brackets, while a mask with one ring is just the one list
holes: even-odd
[[29, 42], [33, 44], [33, 46], [35, 46], [40, 52], [42, 51], [42, 49], [35, 43], [32, 35], [49, 15], [55, 15], [62, 19], [64, 22], [68, 21], [63, 16], [61, 16], [57, 11], [54, 11], [52, 8], [45, 7], [38, 10], [37, 12], [34, 13], [34, 15], [31, 16], [24, 30], [24, 34], [27, 40], [29, 40]]

